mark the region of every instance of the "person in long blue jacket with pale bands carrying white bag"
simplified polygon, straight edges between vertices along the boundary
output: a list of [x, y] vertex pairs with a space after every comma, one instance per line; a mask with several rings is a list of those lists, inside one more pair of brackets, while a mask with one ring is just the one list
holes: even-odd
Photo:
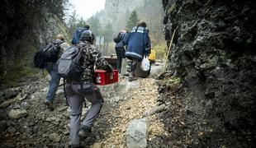
[[137, 63], [140, 62], [144, 56], [149, 56], [151, 44], [149, 39], [149, 30], [146, 29], [146, 23], [140, 22], [130, 30], [130, 34], [126, 39], [127, 51], [126, 58], [132, 60], [129, 73], [129, 81], [136, 80], [135, 69]]

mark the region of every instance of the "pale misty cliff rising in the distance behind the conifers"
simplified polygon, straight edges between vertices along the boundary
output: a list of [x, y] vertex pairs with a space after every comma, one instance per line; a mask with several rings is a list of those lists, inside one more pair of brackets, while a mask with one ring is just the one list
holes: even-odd
[[163, 25], [159, 24], [159, 21], [161, 21], [164, 14], [159, 1], [106, 0], [105, 9], [96, 16], [98, 16], [103, 26], [110, 22], [113, 31], [116, 33], [119, 30], [126, 29], [127, 21], [133, 10], [138, 13], [140, 21], [146, 21], [149, 30], [159, 30], [159, 28], [161, 28], [160, 31], [163, 30]]

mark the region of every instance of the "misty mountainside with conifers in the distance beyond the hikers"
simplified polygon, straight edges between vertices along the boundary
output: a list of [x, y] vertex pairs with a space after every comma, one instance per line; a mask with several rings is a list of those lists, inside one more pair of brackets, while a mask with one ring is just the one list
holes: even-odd
[[[72, 5], [72, 3], [69, 3]], [[113, 6], [112, 6], [113, 5]], [[145, 21], [150, 30], [150, 39], [152, 46], [157, 50], [157, 58], [164, 58], [166, 44], [164, 42], [164, 18], [163, 6], [160, 1], [142, 0], [141, 3], [136, 3], [137, 6], [126, 6], [125, 1], [107, 1], [106, 7], [101, 12], [97, 12], [87, 20], [78, 17], [75, 11], [66, 16], [66, 25], [69, 33], [73, 32], [84, 24], [89, 24], [90, 29], [95, 35], [104, 36], [105, 45], [109, 55], [115, 53], [115, 43], [113, 42], [114, 35], [117, 35], [119, 30], [130, 30], [133, 26], [138, 25], [140, 21]], [[120, 6], [122, 11], [120, 11]], [[117, 11], [117, 12], [115, 12]]]

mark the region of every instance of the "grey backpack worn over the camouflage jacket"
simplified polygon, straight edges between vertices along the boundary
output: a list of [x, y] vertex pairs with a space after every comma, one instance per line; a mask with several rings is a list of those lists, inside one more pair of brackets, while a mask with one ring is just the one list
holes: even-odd
[[57, 62], [59, 76], [65, 80], [78, 80], [83, 73], [82, 57], [83, 48], [80, 45], [66, 49]]

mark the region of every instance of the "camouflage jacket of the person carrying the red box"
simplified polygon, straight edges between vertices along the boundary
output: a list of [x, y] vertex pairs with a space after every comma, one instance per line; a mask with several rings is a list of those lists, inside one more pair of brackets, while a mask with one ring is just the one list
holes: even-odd
[[111, 65], [103, 58], [102, 53], [92, 44], [80, 43], [79, 48], [83, 48], [83, 76], [82, 81], [93, 82], [94, 66], [97, 69], [103, 69], [111, 72], [113, 69]]

